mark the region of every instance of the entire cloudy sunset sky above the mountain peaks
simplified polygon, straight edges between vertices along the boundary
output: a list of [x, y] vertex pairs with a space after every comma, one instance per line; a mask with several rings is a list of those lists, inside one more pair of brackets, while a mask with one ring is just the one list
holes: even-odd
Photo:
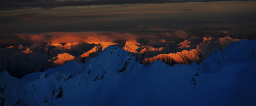
[[1, 0], [0, 45], [256, 39], [256, 1]]

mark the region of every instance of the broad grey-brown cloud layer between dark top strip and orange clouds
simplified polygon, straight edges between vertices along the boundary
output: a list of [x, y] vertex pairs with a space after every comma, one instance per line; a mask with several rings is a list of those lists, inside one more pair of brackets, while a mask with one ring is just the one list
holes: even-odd
[[191, 32], [252, 29], [250, 32], [255, 32], [255, 4], [255, 1], [230, 1], [11, 8], [0, 11], [0, 33], [107, 31], [140, 34], [172, 33], [173, 29]]

